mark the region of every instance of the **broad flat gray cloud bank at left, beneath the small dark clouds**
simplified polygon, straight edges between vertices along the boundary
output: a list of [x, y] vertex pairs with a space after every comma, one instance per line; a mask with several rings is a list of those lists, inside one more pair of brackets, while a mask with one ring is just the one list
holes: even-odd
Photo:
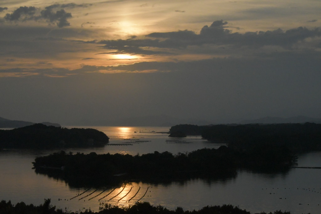
[[[74, 57], [73, 53], [84, 53], [95, 51], [97, 45], [95, 41], [76, 41], [67, 39], [68, 37], [91, 38], [92, 31], [81, 28], [50, 28], [50, 27], [23, 27], [23, 26], [0, 26], [0, 55], [2, 62], [7, 58], [14, 58], [16, 63], [26, 63], [21, 65], [38, 67], [37, 64], [31, 65], [36, 61], [56, 63], [56, 57], [60, 54], [70, 53], [68, 57]], [[95, 32], [94, 32], [95, 33]], [[97, 52], [97, 51], [96, 51]], [[90, 56], [81, 56], [79, 60]], [[30, 60], [26, 60], [30, 59]], [[32, 60], [34, 59], [34, 60]], [[8, 61], [7, 61], [8, 62]], [[1, 63], [0, 63], [1, 64]], [[11, 64], [14, 66], [14, 64]], [[3, 68], [3, 67], [1, 67]]]

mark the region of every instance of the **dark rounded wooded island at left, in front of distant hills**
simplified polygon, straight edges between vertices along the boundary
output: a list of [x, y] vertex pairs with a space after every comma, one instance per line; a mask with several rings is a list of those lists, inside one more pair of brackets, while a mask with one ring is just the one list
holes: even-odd
[[12, 130], [0, 130], [0, 148], [52, 149], [98, 147], [109, 138], [96, 129], [67, 129], [34, 124]]

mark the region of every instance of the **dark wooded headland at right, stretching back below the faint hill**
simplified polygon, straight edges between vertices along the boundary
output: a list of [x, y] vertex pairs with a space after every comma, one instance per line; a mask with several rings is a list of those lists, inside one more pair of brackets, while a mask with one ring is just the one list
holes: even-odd
[[293, 152], [321, 150], [321, 124], [245, 124], [197, 126], [181, 124], [170, 132], [202, 135], [214, 142], [226, 142], [229, 147], [259, 150], [263, 147], [280, 146]]

